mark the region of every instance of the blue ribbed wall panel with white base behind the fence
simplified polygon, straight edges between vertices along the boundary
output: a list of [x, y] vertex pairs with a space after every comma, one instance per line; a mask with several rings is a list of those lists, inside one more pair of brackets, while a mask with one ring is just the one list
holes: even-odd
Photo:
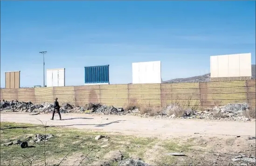
[[84, 83], [109, 83], [109, 65], [84, 67]]

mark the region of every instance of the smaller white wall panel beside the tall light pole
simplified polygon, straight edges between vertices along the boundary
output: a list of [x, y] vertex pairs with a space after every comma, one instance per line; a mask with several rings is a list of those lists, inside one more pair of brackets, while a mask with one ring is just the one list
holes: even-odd
[[46, 86], [47, 87], [65, 86], [65, 68], [47, 69], [46, 70]]

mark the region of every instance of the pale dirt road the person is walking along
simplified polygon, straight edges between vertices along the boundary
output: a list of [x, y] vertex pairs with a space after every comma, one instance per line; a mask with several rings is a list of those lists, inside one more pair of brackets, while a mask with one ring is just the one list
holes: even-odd
[[50, 120], [50, 114], [29, 115], [25, 113], [1, 113], [0, 121], [65, 126], [103, 132], [119, 132], [138, 136], [170, 138], [190, 136], [195, 133], [204, 136], [253, 136], [256, 123], [236, 121], [168, 120], [141, 118], [138, 116], [62, 114], [63, 121]]

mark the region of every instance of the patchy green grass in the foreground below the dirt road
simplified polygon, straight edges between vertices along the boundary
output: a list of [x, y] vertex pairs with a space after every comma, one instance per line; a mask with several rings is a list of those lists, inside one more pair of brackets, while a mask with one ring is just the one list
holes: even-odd
[[[16, 127], [16, 128], [14, 128]], [[22, 128], [24, 127], [24, 128]], [[44, 134], [45, 128], [42, 125], [32, 125], [23, 123], [9, 123], [1, 122], [1, 166], [14, 166], [14, 165], [30, 165], [25, 161], [21, 155], [26, 155], [29, 159], [34, 159], [32, 165], [44, 165], [44, 143], [28, 143], [29, 146], [35, 146], [31, 148], [21, 148], [19, 145], [2, 146], [2, 144], [9, 141], [28, 140], [28, 137], [35, 137], [35, 134]], [[3, 129], [11, 128], [11, 129]], [[97, 151], [90, 153], [89, 160], [84, 160], [82, 165], [89, 165], [95, 161], [104, 159], [104, 155], [110, 151], [120, 150], [124, 155], [124, 158], [130, 158], [131, 156], [141, 158], [145, 162], [151, 159], [154, 155], [157, 156], [162, 153], [168, 152], [188, 152], [190, 151], [191, 140], [187, 143], [179, 145], [177, 141], [173, 140], [159, 140], [157, 138], [141, 138], [135, 136], [92, 132], [86, 130], [80, 130], [75, 128], [61, 128], [61, 127], [49, 127], [46, 130], [46, 134], [53, 134], [54, 137], [45, 142], [46, 161], [48, 166], [58, 164], [60, 160], [70, 152], [70, 150], [76, 147], [67, 157], [62, 165], [78, 165], [91, 149], [91, 147], [100, 147]], [[107, 135], [109, 140], [95, 140], [97, 135]], [[84, 141], [82, 144], [80, 144]], [[158, 145], [160, 149], [154, 149]], [[98, 151], [99, 150], [99, 151]], [[148, 153], [150, 152], [150, 153]], [[32, 154], [34, 156], [32, 157]], [[158, 160], [150, 161], [152, 165], [167, 164], [172, 165], [175, 163], [175, 158], [170, 156], [163, 156]], [[117, 166], [118, 162], [112, 163], [113, 166]]]

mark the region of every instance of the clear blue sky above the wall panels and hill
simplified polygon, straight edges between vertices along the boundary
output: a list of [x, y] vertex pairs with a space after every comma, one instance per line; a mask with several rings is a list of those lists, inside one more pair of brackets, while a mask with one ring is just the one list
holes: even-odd
[[[66, 68], [83, 85], [84, 66], [110, 64], [111, 83], [132, 82], [132, 62], [161, 61], [162, 79], [210, 70], [210, 56], [252, 53], [255, 1], [1, 1], [0, 86], [43, 85], [45, 68]], [[46, 73], [46, 72], [45, 72]]]

